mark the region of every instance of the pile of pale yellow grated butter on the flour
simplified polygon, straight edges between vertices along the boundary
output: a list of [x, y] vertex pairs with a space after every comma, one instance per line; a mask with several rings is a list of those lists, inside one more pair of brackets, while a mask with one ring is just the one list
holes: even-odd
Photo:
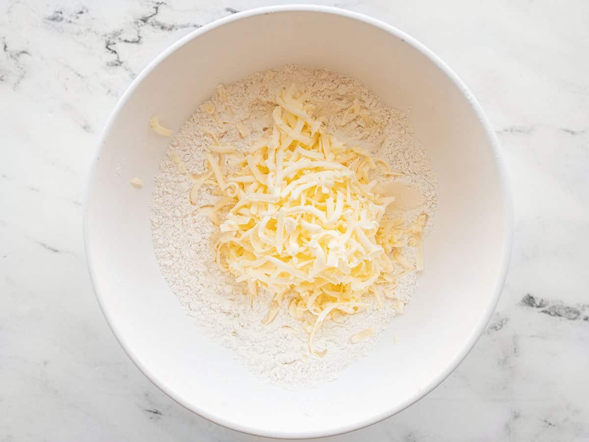
[[[221, 87], [221, 98], [223, 93]], [[389, 295], [383, 285], [423, 269], [426, 215], [408, 225], [388, 211], [395, 196], [379, 177], [401, 173], [352, 141], [326, 133], [309, 96], [295, 85], [276, 103], [271, 133], [247, 154], [213, 137], [205, 156], [209, 170], [191, 176], [188, 197], [194, 204], [202, 186], [217, 187], [219, 201], [194, 211], [219, 227], [217, 266], [246, 284], [252, 299], [259, 291], [272, 293], [264, 324], [288, 303], [290, 315], [309, 333], [309, 351], [324, 355], [326, 350], [314, 345], [323, 321], [339, 322], [361, 311], [368, 296], [382, 307], [382, 297]], [[215, 117], [212, 103], [201, 109]], [[353, 111], [373, 124], [362, 109]], [[157, 120], [151, 126], [167, 134]], [[248, 133], [243, 124], [238, 130]], [[224, 155], [236, 157], [237, 173], [223, 170]], [[405, 245], [418, 250], [415, 262], [403, 256]], [[371, 334], [371, 329], [360, 332], [350, 342]]]

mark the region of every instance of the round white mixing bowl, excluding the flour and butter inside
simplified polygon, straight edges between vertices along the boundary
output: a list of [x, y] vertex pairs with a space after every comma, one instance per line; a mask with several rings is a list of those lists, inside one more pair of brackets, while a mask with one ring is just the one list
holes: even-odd
[[[439, 178], [426, 271], [405, 314], [339, 380], [312, 391], [265, 385], [188, 320], [151, 242], [153, 177], [169, 138], [218, 83], [288, 62], [359, 78], [393, 107], [411, 108]], [[483, 331], [504, 282], [511, 204], [497, 141], [477, 101], [438, 57], [375, 19], [320, 6], [233, 15], [151, 62], [115, 108], [84, 211], [95, 291], [121, 345], [161, 390], [221, 425], [270, 437], [319, 437], [382, 420], [432, 390]], [[130, 186], [142, 177], [145, 187]], [[399, 337], [393, 345], [392, 335]]]

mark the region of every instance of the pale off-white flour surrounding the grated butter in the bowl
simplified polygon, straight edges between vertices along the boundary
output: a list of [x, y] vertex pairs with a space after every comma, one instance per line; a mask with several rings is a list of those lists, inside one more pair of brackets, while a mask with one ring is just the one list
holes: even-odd
[[[204, 146], [216, 142], [231, 144], [238, 151], [272, 130], [274, 97], [284, 87], [297, 84], [312, 97], [314, 114], [323, 116], [327, 132], [340, 140], [353, 138], [354, 144], [370, 150], [397, 171], [398, 180], [418, 187], [424, 203], [418, 209], [402, 212], [406, 220], [419, 213], [428, 215], [426, 231], [436, 207], [436, 178], [425, 147], [417, 140], [411, 123], [402, 111], [386, 107], [358, 80], [327, 70], [307, 70], [286, 65], [269, 72], [256, 72], [224, 88], [211, 98], [219, 121], [199, 108], [180, 128], [170, 143], [155, 177], [151, 202], [151, 224], [155, 255], [161, 272], [176, 293], [188, 315], [211, 339], [234, 350], [236, 359], [269, 381], [297, 387], [333, 380], [338, 372], [365, 355], [396, 314], [408, 304], [416, 285], [416, 274], [403, 276], [382, 309], [373, 301], [366, 311], [349, 316], [342, 324], [325, 321], [316, 337], [317, 348], [327, 348], [325, 357], [309, 354], [309, 335], [301, 322], [293, 319], [286, 305], [269, 325], [262, 325], [270, 297], [262, 294], [250, 305], [245, 288], [234, 277], [222, 273], [214, 263], [211, 238], [217, 227], [206, 216], [193, 215], [195, 207], [219, 199], [213, 187], [203, 186], [195, 205], [188, 200], [192, 182], [186, 171], [206, 169]], [[363, 109], [355, 115], [350, 108]], [[236, 122], [249, 133], [240, 134]], [[224, 156], [224, 170], [234, 169], [230, 155]], [[403, 249], [410, 260], [415, 250]], [[427, 260], [427, 255], [425, 256]], [[366, 329], [375, 333], [356, 344], [350, 337]]]

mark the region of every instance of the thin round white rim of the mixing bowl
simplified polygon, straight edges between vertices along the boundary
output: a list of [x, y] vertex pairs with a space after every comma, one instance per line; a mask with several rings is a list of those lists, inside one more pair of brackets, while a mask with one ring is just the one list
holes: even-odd
[[[472, 109], [475, 111], [479, 121], [484, 128], [485, 133], [487, 134], [487, 138], [491, 144], [492, 154], [495, 159], [495, 164], [498, 169], [499, 174], [499, 184], [501, 187], [501, 194], [502, 194], [502, 203], [504, 205], [504, 236], [503, 236], [503, 247], [501, 253], [501, 265], [499, 266], [499, 273], [498, 278], [495, 281], [494, 288], [492, 289], [492, 296], [489, 299], [487, 308], [485, 309], [484, 315], [481, 316], [479, 319], [477, 327], [472, 332], [471, 336], [466, 340], [465, 344], [461, 348], [461, 350], [456, 354], [454, 359], [448, 364], [444, 371], [440, 372], [436, 377], [432, 378], [428, 384], [426, 384], [421, 390], [416, 391], [411, 397], [408, 397], [403, 401], [401, 404], [396, 405], [395, 407], [388, 408], [386, 410], [381, 411], [380, 413], [373, 415], [370, 418], [366, 418], [359, 421], [354, 421], [352, 423], [343, 423], [338, 427], [332, 428], [324, 428], [322, 430], [317, 431], [274, 431], [274, 430], [266, 430], [264, 428], [259, 427], [250, 427], [248, 425], [243, 425], [232, 421], [231, 419], [227, 419], [222, 415], [216, 415], [213, 413], [209, 413], [209, 411], [204, 410], [203, 408], [198, 407], [195, 404], [189, 403], [185, 400], [181, 395], [179, 395], [176, 391], [171, 391], [167, 388], [163, 382], [160, 382], [157, 377], [153, 375], [148, 367], [141, 364], [140, 359], [134, 354], [133, 349], [131, 349], [127, 342], [122, 335], [120, 335], [117, 326], [112, 321], [112, 317], [108, 311], [107, 306], [104, 304], [104, 299], [102, 298], [101, 292], [97, 288], [97, 284], [95, 281], [97, 280], [97, 276], [94, 273], [94, 260], [92, 258], [92, 248], [91, 248], [91, 241], [90, 241], [90, 234], [88, 229], [88, 212], [89, 212], [89, 205], [90, 205], [90, 197], [91, 197], [91, 190], [92, 184], [95, 182], [95, 177], [97, 174], [98, 169], [98, 161], [100, 160], [100, 154], [102, 150], [102, 146], [104, 145], [105, 139], [110, 133], [112, 125], [114, 121], [117, 119], [118, 114], [120, 113], [121, 109], [123, 108], [124, 104], [127, 102], [128, 98], [131, 94], [134, 93], [137, 86], [143, 81], [143, 79], [150, 74], [151, 71], [154, 70], [163, 60], [165, 60], [170, 54], [177, 51], [180, 47], [183, 47], [189, 41], [193, 40], [194, 38], [199, 37], [200, 35], [210, 31], [211, 29], [223, 26], [230, 22], [249, 18], [254, 15], [260, 14], [269, 14], [274, 12], [318, 12], [322, 14], [333, 14], [339, 15], [341, 17], [355, 19], [357, 21], [364, 22], [366, 24], [372, 25], [373, 27], [382, 29], [383, 31], [392, 34], [395, 37], [403, 39], [406, 44], [411, 45], [413, 49], [421, 54], [425, 55], [436, 65], [436, 67], [441, 70], [448, 78], [452, 81], [452, 83], [458, 88], [458, 90], [464, 95], [464, 97], [471, 103]], [[501, 295], [502, 288], [505, 283], [505, 278], [507, 276], [507, 271], [509, 268], [509, 259], [511, 256], [511, 248], [512, 248], [512, 236], [513, 236], [513, 206], [512, 206], [512, 198], [511, 198], [511, 191], [509, 189], [509, 181], [508, 181], [508, 174], [507, 169], [504, 164], [504, 160], [501, 157], [501, 152], [499, 149], [499, 143], [497, 140], [497, 136], [495, 135], [494, 131], [492, 130], [491, 124], [487, 116], [485, 115], [484, 111], [482, 110], [481, 105], [478, 103], [476, 98], [472, 95], [471, 91], [468, 90], [464, 82], [455, 74], [455, 72], [445, 64], [444, 61], [441, 60], [437, 55], [434, 54], [429, 48], [423, 45], [421, 42], [416, 40], [415, 38], [411, 37], [411, 35], [406, 34], [405, 32], [401, 31], [398, 28], [393, 27], [392, 25], [380, 21], [379, 19], [369, 17], [368, 15], [360, 14], [359, 12], [348, 11], [346, 9], [340, 9], [333, 6], [320, 6], [320, 5], [277, 5], [277, 6], [264, 6], [262, 8], [254, 8], [248, 9], [246, 11], [237, 12], [236, 14], [229, 15], [227, 17], [223, 17], [217, 19], [209, 24], [204, 25], [201, 28], [195, 29], [194, 31], [190, 32], [189, 34], [185, 35], [183, 38], [178, 39], [178, 41], [174, 42], [170, 45], [166, 50], [161, 52], [157, 57], [154, 58], [151, 62], [143, 68], [140, 74], [134, 78], [130, 85], [128, 85], [127, 89], [124, 91], [123, 95], [119, 98], [117, 104], [115, 105], [112, 113], [108, 117], [107, 123], [104, 126], [104, 130], [102, 130], [102, 134], [100, 137], [100, 141], [98, 144], [98, 149], [95, 151], [94, 159], [92, 160], [90, 171], [87, 176], [87, 180], [85, 181], [85, 189], [84, 189], [84, 209], [82, 212], [82, 227], [84, 232], [84, 249], [86, 255], [86, 261], [88, 265], [88, 273], [90, 273], [90, 279], [92, 283], [92, 288], [94, 289], [95, 295], [98, 300], [98, 305], [102, 310], [102, 314], [104, 314], [105, 319], [107, 320], [108, 325], [110, 326], [115, 338], [123, 347], [125, 353], [127, 353], [128, 357], [130, 357], [131, 361], [135, 364], [135, 366], [147, 377], [156, 387], [158, 387], [161, 391], [163, 391], [168, 397], [176, 401], [178, 404], [182, 405], [187, 410], [192, 411], [200, 415], [201, 417], [219, 424], [223, 427], [230, 428], [231, 430], [237, 430], [242, 433], [252, 434], [255, 436], [262, 436], [262, 437], [273, 437], [273, 438], [283, 438], [283, 439], [292, 439], [292, 438], [318, 438], [318, 437], [326, 437], [326, 436], [335, 436], [337, 434], [348, 433], [349, 431], [358, 430], [363, 427], [367, 427], [368, 425], [372, 425], [378, 423], [379, 421], [385, 420], [392, 415], [399, 413], [399, 411], [404, 410], [405, 408], [409, 407], [410, 405], [416, 403], [421, 398], [425, 397], [425, 395], [429, 394], [435, 387], [441, 384], [455, 369], [458, 367], [459, 364], [465, 359], [466, 355], [469, 354], [471, 349], [477, 344], [478, 339], [481, 337], [482, 332], [485, 330], [489, 319], [491, 318], [492, 313], [494, 312], [495, 306], [497, 306], [497, 302], [499, 301], [499, 296]]]

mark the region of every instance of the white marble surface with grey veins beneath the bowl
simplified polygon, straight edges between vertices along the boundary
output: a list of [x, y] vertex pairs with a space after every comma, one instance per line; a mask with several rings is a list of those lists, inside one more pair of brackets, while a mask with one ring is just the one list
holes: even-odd
[[[184, 410], [124, 354], [88, 278], [81, 199], [134, 75], [199, 25], [271, 2], [122, 3], [0, 2], [0, 441], [257, 441]], [[424, 42], [481, 101], [511, 176], [515, 244], [458, 370], [328, 440], [589, 440], [589, 3], [557, 3], [337, 3]]]

